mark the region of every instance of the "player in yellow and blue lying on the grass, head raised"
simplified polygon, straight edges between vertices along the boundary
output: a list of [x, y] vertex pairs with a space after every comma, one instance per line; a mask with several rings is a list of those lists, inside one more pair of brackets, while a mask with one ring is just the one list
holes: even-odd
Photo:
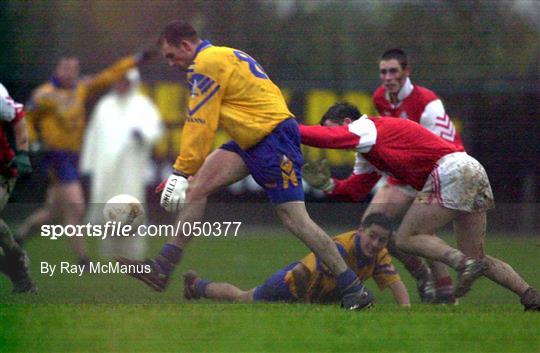
[[[396, 303], [410, 306], [407, 288], [385, 247], [391, 233], [390, 220], [382, 213], [371, 213], [356, 231], [333, 239], [343, 259], [361, 280], [373, 277], [381, 290], [390, 288]], [[340, 298], [336, 292], [336, 278], [314, 253], [277, 271], [264, 284], [247, 291], [229, 283], [202, 279], [191, 270], [184, 275], [184, 296], [186, 299], [204, 297], [236, 302], [308, 303], [332, 303]]]

